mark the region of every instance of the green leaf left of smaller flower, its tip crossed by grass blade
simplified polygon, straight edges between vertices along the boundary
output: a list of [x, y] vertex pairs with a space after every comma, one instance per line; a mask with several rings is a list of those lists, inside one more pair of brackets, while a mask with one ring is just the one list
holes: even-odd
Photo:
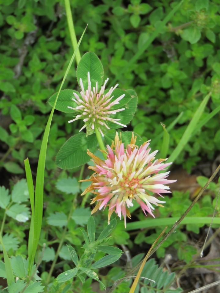
[[[72, 99], [75, 99], [75, 96], [73, 95], [74, 92], [78, 96], [80, 96], [80, 93], [73, 89], [63, 89], [62, 91], [60, 91], [55, 109], [62, 111], [64, 113], [74, 113], [75, 112], [74, 110], [68, 108], [68, 106], [72, 108], [75, 108], [77, 106], [77, 104], [72, 100]], [[53, 96], [51, 96], [50, 99], [48, 100], [48, 103], [50, 104], [50, 106], [53, 107], [53, 104], [56, 98], [57, 98], [57, 92], [53, 94]]]

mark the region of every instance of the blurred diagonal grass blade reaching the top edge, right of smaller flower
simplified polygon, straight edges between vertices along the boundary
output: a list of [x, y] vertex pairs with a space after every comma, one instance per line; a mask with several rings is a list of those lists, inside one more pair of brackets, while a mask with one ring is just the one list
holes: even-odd
[[167, 24], [167, 22], [171, 19], [171, 17], [174, 15], [174, 13], [179, 9], [180, 5], [182, 4], [183, 0], [180, 1], [174, 9], [171, 10], [170, 13], [167, 14], [167, 16], [161, 21], [159, 26], [155, 29], [155, 31], [150, 35], [149, 39], [146, 41], [146, 43], [138, 49], [136, 54], [130, 59], [129, 63], [125, 65], [121, 71], [117, 74], [116, 78], [112, 81], [112, 85], [116, 84], [116, 81], [120, 79], [121, 75], [127, 71], [128, 67], [130, 67], [131, 64], [135, 63], [140, 57], [143, 52], [151, 45], [151, 43], [154, 41], [154, 39], [160, 34], [160, 31], [162, 28]]

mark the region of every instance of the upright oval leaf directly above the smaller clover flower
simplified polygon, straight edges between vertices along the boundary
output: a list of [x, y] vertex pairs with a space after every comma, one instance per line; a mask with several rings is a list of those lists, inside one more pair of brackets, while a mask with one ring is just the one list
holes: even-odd
[[80, 78], [82, 78], [85, 91], [88, 88], [88, 72], [90, 72], [91, 87], [95, 87], [96, 82], [98, 82], [99, 90], [103, 83], [104, 70], [98, 56], [93, 52], [87, 52], [82, 56], [76, 70], [78, 84]]

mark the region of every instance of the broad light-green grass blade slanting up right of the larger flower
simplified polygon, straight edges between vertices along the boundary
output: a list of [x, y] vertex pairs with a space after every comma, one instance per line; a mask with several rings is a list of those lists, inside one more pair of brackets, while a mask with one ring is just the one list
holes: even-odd
[[202, 101], [198, 109], [196, 110], [192, 120], [189, 122], [189, 125], [187, 126], [182, 138], [180, 139], [180, 142], [178, 143], [177, 147], [174, 149], [174, 151], [168, 158], [167, 162], [174, 162], [176, 158], [178, 157], [178, 155], [180, 154], [180, 152], [184, 149], [186, 143], [188, 143], [191, 137], [191, 134], [193, 133], [194, 130], [196, 130], [198, 126], [198, 121], [202, 113], [204, 112], [205, 106], [210, 96], [211, 96], [211, 93], [208, 93], [207, 96], [205, 96], [204, 100]]

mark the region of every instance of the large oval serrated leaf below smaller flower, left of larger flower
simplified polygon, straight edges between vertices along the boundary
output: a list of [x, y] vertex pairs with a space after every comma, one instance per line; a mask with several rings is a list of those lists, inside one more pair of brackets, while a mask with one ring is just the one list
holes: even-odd
[[56, 164], [61, 169], [71, 169], [79, 167], [88, 161], [90, 157], [86, 154], [87, 149], [94, 153], [97, 146], [95, 134], [86, 138], [86, 133], [80, 133], [69, 138], [60, 148]]

